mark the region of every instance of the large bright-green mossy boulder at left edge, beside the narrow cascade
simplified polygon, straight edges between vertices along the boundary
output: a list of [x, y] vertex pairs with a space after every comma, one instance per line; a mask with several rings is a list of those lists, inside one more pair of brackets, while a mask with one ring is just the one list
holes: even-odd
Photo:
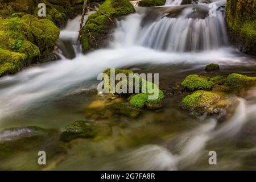
[[0, 18], [0, 76], [14, 74], [51, 52], [60, 30], [48, 19], [32, 15]]

